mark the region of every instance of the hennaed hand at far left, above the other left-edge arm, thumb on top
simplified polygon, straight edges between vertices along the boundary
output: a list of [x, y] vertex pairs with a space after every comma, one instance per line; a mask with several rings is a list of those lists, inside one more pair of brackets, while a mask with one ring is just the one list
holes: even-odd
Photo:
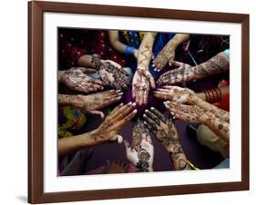
[[103, 82], [87, 76], [86, 73], [96, 72], [94, 69], [84, 67], [72, 67], [63, 72], [59, 81], [66, 84], [73, 91], [90, 93], [103, 90]]

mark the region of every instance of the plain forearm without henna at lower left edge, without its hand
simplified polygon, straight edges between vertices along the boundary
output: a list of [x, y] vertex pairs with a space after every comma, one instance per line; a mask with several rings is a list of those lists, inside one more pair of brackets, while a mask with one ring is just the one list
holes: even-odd
[[91, 137], [93, 132], [87, 132], [73, 137], [61, 138], [58, 140], [58, 155], [62, 156], [65, 154], [78, 151], [86, 148], [87, 146], [96, 145], [97, 142]]

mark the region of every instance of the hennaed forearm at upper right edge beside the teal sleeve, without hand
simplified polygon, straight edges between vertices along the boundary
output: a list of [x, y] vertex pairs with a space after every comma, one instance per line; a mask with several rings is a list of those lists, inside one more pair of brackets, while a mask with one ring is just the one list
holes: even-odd
[[224, 73], [230, 69], [230, 60], [224, 52], [210, 58], [209, 61], [205, 63], [200, 63], [192, 67], [195, 73], [194, 80], [201, 79], [213, 74]]

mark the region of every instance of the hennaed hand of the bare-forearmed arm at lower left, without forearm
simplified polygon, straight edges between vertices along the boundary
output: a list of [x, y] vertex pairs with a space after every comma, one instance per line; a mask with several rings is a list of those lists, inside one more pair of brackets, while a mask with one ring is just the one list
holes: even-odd
[[129, 102], [125, 105], [121, 103], [110, 112], [97, 130], [91, 135], [91, 139], [95, 144], [113, 141], [122, 143], [123, 138], [118, 135], [118, 132], [136, 115], [137, 110], [135, 106], [135, 102]]

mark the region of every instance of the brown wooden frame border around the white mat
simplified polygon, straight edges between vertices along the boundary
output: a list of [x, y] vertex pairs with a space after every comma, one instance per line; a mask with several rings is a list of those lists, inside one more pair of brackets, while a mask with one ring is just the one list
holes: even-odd
[[[44, 192], [44, 65], [43, 14], [44, 12], [89, 15], [120, 15], [148, 18], [170, 18], [193, 21], [214, 21], [241, 24], [241, 181], [128, 188], [115, 190], [82, 190]], [[249, 15], [183, 11], [172, 9], [85, 5], [72, 3], [28, 3], [28, 202], [47, 203], [77, 200], [104, 200], [132, 197], [164, 196], [173, 194], [215, 191], [249, 190]]]

